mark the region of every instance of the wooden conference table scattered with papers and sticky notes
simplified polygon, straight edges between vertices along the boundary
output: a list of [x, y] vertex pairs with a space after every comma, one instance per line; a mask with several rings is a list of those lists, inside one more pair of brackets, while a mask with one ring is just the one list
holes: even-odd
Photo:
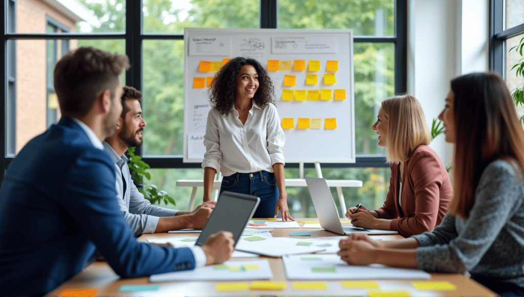
[[[311, 221], [316, 219], [297, 219], [297, 221]], [[303, 225], [303, 223], [299, 223]], [[307, 231], [311, 233], [311, 237], [331, 237], [338, 236], [330, 231], [323, 229], [273, 229], [274, 237], [289, 237], [290, 232]], [[188, 237], [198, 236], [196, 233], [160, 233], [160, 234], [147, 234], [142, 235], [138, 238], [139, 241], [147, 241], [151, 238], [162, 238], [162, 237]], [[402, 238], [399, 235], [374, 235], [374, 239], [390, 240]], [[216, 284], [225, 281], [170, 281], [170, 282], [149, 282], [149, 278], [120, 278], [107, 264], [107, 262], [97, 261], [86, 267], [80, 273], [75, 275], [67, 282], [60, 285], [55, 290], [51, 291], [47, 296], [57, 296], [64, 290], [71, 289], [96, 289], [98, 290], [96, 296], [260, 296], [260, 295], [282, 295], [282, 296], [307, 296], [307, 295], [336, 295], [336, 296], [349, 296], [354, 295], [351, 289], [344, 289], [341, 285], [340, 280], [326, 280], [324, 281], [328, 285], [327, 290], [294, 290], [292, 283], [286, 278], [284, 272], [282, 258], [272, 258], [261, 256], [260, 258], [232, 258], [230, 261], [246, 260], [246, 259], [268, 259], [273, 273], [271, 281], [286, 281], [287, 287], [281, 291], [228, 291], [218, 292], [216, 291]], [[413, 288], [411, 285], [412, 281], [409, 279], [383, 279], [376, 280], [381, 288], [384, 285], [390, 285], [395, 283], [396, 287]], [[419, 280], [424, 281], [424, 280]], [[428, 280], [425, 280], [428, 281]], [[465, 277], [462, 274], [446, 274], [446, 273], [431, 273], [431, 281], [448, 281], [456, 286], [455, 291], [421, 291], [423, 296], [494, 296], [494, 292], [483, 287], [481, 284]], [[226, 281], [228, 283], [234, 283], [236, 281]], [[253, 281], [237, 281], [252, 283]], [[119, 292], [118, 288], [122, 285], [134, 284], [134, 285], [160, 285], [157, 291], [137, 291], [137, 292]]]

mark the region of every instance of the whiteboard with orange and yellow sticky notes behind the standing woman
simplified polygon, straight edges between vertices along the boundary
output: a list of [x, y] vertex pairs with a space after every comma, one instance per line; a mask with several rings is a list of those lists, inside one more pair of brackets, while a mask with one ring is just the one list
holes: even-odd
[[[203, 137], [211, 110], [209, 88], [194, 88], [194, 78], [213, 77], [216, 71], [199, 71], [201, 61], [215, 67], [224, 58], [253, 58], [267, 69], [268, 60], [304, 60], [306, 70], [268, 71], [275, 87], [280, 116], [294, 119], [284, 129], [287, 163], [355, 163], [355, 109], [353, 87], [353, 32], [326, 29], [184, 29], [184, 156], [183, 162], [202, 162]], [[319, 71], [309, 71], [308, 61], [320, 60]], [[338, 61], [338, 70], [326, 71], [327, 61]], [[216, 69], [216, 68], [215, 68]], [[207, 69], [206, 69], [207, 70]], [[334, 73], [336, 83], [324, 84], [323, 75]], [[306, 84], [316, 74], [318, 83]], [[284, 86], [284, 76], [296, 77], [295, 86]], [[282, 90], [343, 89], [345, 100], [284, 101]], [[321, 129], [298, 129], [298, 118], [320, 118]], [[336, 119], [336, 129], [325, 129], [325, 119]]]

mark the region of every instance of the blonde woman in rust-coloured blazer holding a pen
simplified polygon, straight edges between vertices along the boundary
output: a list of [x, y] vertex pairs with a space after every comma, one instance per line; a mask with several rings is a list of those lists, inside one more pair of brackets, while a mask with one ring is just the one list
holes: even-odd
[[404, 237], [433, 230], [453, 190], [444, 164], [428, 146], [431, 136], [419, 101], [409, 95], [384, 100], [372, 129], [391, 163], [386, 201], [375, 210], [352, 207], [346, 216], [355, 227], [395, 230]]

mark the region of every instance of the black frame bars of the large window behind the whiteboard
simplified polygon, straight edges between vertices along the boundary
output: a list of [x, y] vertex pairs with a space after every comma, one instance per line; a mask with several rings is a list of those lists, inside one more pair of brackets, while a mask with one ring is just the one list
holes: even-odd
[[[7, 41], [16, 39], [125, 39], [125, 50], [129, 57], [132, 68], [126, 72], [126, 83], [137, 89], [142, 87], [142, 55], [144, 40], [175, 39], [183, 40], [183, 34], [149, 34], [143, 31], [142, 1], [126, 1], [126, 31], [125, 33], [41, 33], [41, 34], [17, 34], [6, 31], [7, 25], [7, 3], [15, 0], [8, 0], [0, 9], [3, 10], [4, 22], [0, 25], [2, 31], [2, 41], [5, 52], [7, 52]], [[139, 20], [137, 22], [136, 20]], [[278, 3], [277, 0], [260, 0], [260, 28], [277, 28], [278, 22]], [[354, 43], [390, 43], [395, 47], [395, 93], [407, 91], [407, 33], [408, 33], [408, 3], [407, 0], [395, 0], [395, 35], [386, 37], [375, 36], [355, 36]], [[0, 68], [5, 68], [7, 55], [0, 62]], [[2, 65], [3, 64], [3, 65]], [[7, 70], [2, 72], [4, 84], [1, 87], [7, 95], [6, 86]], [[7, 98], [7, 96], [4, 96]], [[5, 114], [6, 104], [0, 107], [0, 114]], [[0, 130], [6, 131], [5, 121], [0, 121]], [[16, 127], [14, 128], [16, 130]], [[0, 137], [0, 157], [2, 158], [3, 170], [0, 171], [0, 181], [3, 180], [4, 171], [13, 157], [6, 156], [6, 137]], [[142, 148], [138, 146], [135, 153], [142, 155]], [[199, 163], [183, 163], [182, 156], [145, 156], [143, 158], [151, 168], [200, 168]], [[287, 168], [298, 168], [298, 163], [287, 163]], [[313, 168], [314, 164], [304, 164], [306, 168]], [[384, 155], [357, 155], [356, 163], [325, 163], [323, 168], [346, 168], [346, 167], [389, 167]]]

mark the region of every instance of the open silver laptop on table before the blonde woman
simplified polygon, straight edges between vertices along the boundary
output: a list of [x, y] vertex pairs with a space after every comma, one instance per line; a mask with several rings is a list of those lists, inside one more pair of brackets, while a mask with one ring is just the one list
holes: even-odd
[[308, 184], [309, 194], [315, 206], [316, 216], [319, 217], [320, 227], [334, 232], [336, 234], [397, 234], [397, 231], [378, 230], [378, 229], [363, 229], [356, 227], [343, 227], [340, 223], [339, 211], [336, 209], [335, 201], [331, 196], [331, 191], [328, 183], [324, 178], [319, 177], [305, 177], [305, 182]]

